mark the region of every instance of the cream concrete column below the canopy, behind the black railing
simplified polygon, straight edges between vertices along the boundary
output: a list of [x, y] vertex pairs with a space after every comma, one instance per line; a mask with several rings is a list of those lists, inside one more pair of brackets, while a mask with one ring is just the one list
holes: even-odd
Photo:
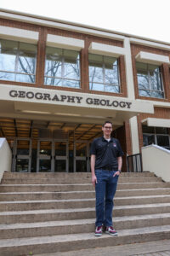
[[130, 131], [132, 137], [133, 154], [139, 154], [139, 132], [138, 132], [138, 119], [136, 116], [129, 119]]

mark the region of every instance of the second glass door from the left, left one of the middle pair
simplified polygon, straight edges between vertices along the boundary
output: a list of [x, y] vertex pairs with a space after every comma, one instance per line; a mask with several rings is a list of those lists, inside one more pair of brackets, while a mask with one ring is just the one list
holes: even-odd
[[37, 143], [37, 172], [53, 172], [52, 141], [40, 140]]

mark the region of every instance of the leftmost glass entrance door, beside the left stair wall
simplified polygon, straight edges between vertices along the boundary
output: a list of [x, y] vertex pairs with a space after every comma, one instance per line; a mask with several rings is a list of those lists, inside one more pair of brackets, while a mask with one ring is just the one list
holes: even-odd
[[14, 143], [14, 172], [31, 172], [31, 139], [17, 138]]

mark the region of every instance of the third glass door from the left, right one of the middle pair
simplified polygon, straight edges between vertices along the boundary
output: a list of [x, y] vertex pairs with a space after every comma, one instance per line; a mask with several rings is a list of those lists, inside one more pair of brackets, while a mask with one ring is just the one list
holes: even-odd
[[69, 154], [67, 140], [54, 140], [54, 172], [68, 172]]

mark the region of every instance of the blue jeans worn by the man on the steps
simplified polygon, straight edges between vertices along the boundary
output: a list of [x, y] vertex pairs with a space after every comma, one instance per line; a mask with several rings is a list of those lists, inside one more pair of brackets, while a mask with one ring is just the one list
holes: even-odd
[[97, 183], [96, 195], [96, 226], [112, 226], [113, 198], [116, 193], [118, 175], [113, 177], [116, 171], [95, 170]]

